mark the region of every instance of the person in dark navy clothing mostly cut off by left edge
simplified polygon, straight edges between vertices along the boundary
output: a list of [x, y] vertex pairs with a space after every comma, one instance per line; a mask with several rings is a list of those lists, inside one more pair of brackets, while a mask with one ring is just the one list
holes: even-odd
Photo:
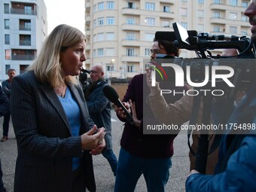
[[[3, 93], [2, 86], [0, 86], [0, 117], [2, 117], [5, 114], [8, 114], [10, 112], [10, 102], [8, 97]], [[0, 192], [5, 192], [4, 183], [2, 181], [2, 166], [1, 166], [1, 160], [0, 160]]]

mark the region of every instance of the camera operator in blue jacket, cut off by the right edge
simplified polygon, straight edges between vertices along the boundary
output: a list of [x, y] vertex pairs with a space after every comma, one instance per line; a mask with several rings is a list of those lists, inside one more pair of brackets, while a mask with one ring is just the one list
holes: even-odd
[[[251, 39], [256, 43], [256, 0], [244, 12], [251, 23]], [[220, 145], [218, 167], [215, 175], [203, 175], [192, 170], [187, 176], [186, 190], [193, 191], [256, 191], [256, 131], [232, 134], [233, 123], [246, 123], [247, 128], [256, 123], [256, 84], [248, 90], [245, 98], [233, 112], [228, 123], [230, 130]]]

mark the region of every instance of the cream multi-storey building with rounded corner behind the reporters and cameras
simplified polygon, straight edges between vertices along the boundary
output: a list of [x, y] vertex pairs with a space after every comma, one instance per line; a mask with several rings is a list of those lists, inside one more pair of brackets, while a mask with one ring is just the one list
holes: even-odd
[[[173, 31], [178, 22], [187, 30], [216, 35], [251, 35], [242, 13], [250, 0], [85, 0], [87, 61], [105, 65], [109, 78], [132, 78], [143, 70], [143, 59], [157, 31]], [[221, 51], [221, 50], [216, 50]], [[182, 57], [194, 57], [181, 50]]]

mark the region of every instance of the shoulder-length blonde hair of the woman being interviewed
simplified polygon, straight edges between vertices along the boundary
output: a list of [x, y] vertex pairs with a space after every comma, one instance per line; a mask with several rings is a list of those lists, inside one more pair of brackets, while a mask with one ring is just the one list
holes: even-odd
[[48, 82], [52, 87], [59, 87], [66, 83], [75, 84], [76, 77], [67, 76], [65, 79], [59, 61], [60, 53], [69, 47], [85, 41], [85, 35], [78, 29], [68, 25], [59, 25], [50, 33], [44, 41], [41, 51], [28, 71], [35, 72], [38, 81]]

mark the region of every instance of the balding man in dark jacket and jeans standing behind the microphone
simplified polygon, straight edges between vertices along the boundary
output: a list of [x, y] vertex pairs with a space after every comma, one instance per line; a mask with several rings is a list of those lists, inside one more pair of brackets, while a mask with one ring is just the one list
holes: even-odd
[[90, 117], [98, 127], [105, 127], [106, 147], [102, 155], [108, 160], [114, 176], [117, 171], [117, 157], [112, 150], [111, 136], [111, 102], [105, 97], [103, 87], [108, 85], [104, 79], [104, 69], [102, 64], [95, 64], [90, 71], [91, 84], [85, 90], [85, 99], [90, 113]]

